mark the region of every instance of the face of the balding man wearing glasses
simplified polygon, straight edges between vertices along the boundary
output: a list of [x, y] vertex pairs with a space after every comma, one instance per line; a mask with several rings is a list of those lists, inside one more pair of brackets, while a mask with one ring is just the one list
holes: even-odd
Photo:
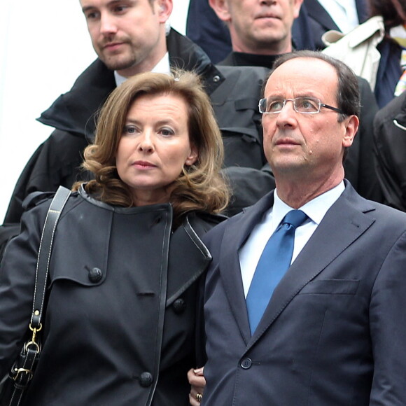
[[[265, 97], [315, 97], [338, 108], [337, 86], [333, 66], [321, 59], [296, 58], [272, 73]], [[338, 114], [323, 107], [316, 114], [297, 113], [288, 101], [280, 113], [262, 115], [264, 151], [276, 179], [305, 176], [316, 181], [342, 173], [344, 147], [352, 144], [358, 118], [350, 116], [339, 123]]]

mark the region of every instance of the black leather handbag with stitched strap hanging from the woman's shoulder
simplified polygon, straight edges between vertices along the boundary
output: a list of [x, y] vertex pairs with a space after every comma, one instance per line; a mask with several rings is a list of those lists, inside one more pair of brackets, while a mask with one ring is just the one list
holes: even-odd
[[36, 364], [41, 354], [41, 337], [43, 303], [48, 279], [48, 269], [52, 242], [57, 221], [68, 200], [71, 191], [59, 186], [52, 199], [43, 225], [41, 244], [36, 262], [34, 301], [29, 321], [29, 339], [22, 346], [20, 354], [13, 363], [8, 376], [3, 379], [0, 388], [1, 406], [18, 406], [22, 401], [29, 383], [34, 375]]

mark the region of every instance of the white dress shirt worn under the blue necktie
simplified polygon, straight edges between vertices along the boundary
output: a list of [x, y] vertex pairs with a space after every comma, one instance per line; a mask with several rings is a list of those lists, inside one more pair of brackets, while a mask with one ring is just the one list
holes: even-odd
[[[299, 209], [304, 211], [309, 217], [295, 231], [295, 245], [293, 248], [292, 263], [309, 238], [323, 220], [328, 209], [334, 204], [339, 196], [344, 192], [345, 186], [342, 181], [335, 188], [328, 190], [323, 195], [317, 196], [310, 202], [304, 204]], [[239, 249], [239, 265], [241, 267], [242, 283], [244, 285], [245, 296], [253, 279], [255, 268], [260, 260], [262, 251], [273, 232], [281, 223], [288, 211], [294, 210], [279, 198], [276, 189], [274, 190], [274, 205], [262, 217], [262, 221], [255, 225], [246, 243]]]

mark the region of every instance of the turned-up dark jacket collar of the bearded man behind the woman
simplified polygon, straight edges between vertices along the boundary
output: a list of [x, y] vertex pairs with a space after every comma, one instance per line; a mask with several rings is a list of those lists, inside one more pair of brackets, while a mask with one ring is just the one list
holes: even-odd
[[[225, 80], [202, 48], [174, 29], [167, 36], [167, 48], [171, 66], [200, 74], [208, 94]], [[95, 114], [115, 88], [113, 71], [96, 59], [80, 74], [71, 90], [58, 97], [37, 120], [92, 141], [96, 127]]]

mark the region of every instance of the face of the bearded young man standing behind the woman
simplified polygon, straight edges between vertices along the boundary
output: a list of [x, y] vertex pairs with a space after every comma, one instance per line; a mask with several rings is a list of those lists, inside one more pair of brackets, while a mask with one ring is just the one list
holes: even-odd
[[80, 5], [93, 48], [109, 69], [131, 76], [151, 71], [165, 55], [172, 0], [80, 0]]

